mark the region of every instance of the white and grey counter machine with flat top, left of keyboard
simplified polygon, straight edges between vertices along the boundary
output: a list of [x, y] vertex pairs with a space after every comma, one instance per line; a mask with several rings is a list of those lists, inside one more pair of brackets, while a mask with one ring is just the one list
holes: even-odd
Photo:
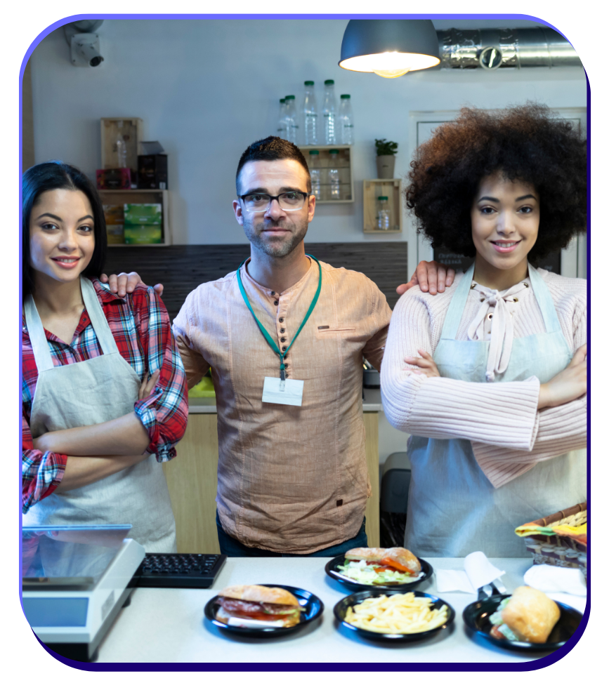
[[22, 600], [27, 621], [53, 651], [92, 661], [137, 583], [145, 550], [130, 524], [24, 526]]

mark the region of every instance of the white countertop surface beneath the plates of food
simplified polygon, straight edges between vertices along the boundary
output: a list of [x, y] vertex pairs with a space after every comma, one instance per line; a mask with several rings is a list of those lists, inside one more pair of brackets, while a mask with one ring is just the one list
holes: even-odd
[[[351, 591], [326, 576], [325, 557], [229, 557], [210, 590], [136, 588], [131, 605], [121, 610], [100, 645], [98, 662], [510, 662], [537, 656], [513, 653], [470, 635], [462, 613], [476, 596], [440, 594], [435, 577], [415, 590], [438, 595], [457, 612], [452, 625], [427, 640], [407, 645], [379, 644], [339, 627], [332, 610]], [[463, 569], [463, 559], [430, 558], [438, 569]], [[491, 559], [506, 573], [511, 592], [523, 585], [531, 560]], [[204, 618], [203, 608], [229, 585], [276, 583], [304, 588], [324, 603], [321, 618], [308, 627], [273, 639], [247, 638], [221, 632]], [[549, 653], [547, 653], [549, 654]]]

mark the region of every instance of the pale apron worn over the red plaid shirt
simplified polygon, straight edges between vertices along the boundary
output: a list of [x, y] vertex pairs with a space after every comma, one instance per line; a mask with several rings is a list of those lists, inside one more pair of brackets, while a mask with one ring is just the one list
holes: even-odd
[[[34, 300], [29, 296], [24, 304], [38, 369], [30, 418], [34, 439], [46, 432], [120, 418], [133, 412], [138, 399], [140, 378], [119, 353], [93, 284], [84, 277], [80, 281], [102, 356], [53, 366]], [[131, 524], [128, 537], [146, 552], [176, 552], [169, 490], [155, 455], [93, 484], [51, 493], [30, 508], [23, 524]]]

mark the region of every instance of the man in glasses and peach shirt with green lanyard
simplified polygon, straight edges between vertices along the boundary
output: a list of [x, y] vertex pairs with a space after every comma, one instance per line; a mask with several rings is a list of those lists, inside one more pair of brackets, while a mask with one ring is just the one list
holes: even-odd
[[315, 195], [298, 147], [254, 142], [236, 182], [251, 256], [173, 321], [188, 386], [210, 366], [214, 380], [221, 552], [339, 555], [367, 545], [362, 358], [380, 369], [391, 309], [365, 275], [305, 253]]

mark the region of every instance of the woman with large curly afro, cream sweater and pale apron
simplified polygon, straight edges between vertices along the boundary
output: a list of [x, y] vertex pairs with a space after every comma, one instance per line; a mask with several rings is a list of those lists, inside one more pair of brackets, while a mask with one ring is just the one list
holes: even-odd
[[535, 268], [585, 231], [585, 148], [547, 107], [464, 109], [412, 161], [419, 231], [475, 258], [400, 298], [381, 369], [419, 557], [525, 557], [516, 526], [586, 500], [586, 281]]

